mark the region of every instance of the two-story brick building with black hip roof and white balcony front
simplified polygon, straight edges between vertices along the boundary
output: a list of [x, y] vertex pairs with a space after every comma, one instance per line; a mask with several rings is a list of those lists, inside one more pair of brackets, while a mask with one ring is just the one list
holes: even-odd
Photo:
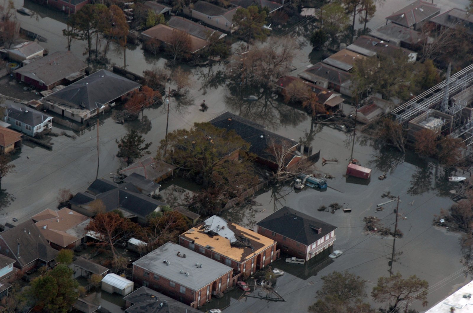
[[278, 242], [282, 252], [306, 261], [333, 246], [337, 227], [289, 207], [277, 210], [258, 225], [258, 234]]

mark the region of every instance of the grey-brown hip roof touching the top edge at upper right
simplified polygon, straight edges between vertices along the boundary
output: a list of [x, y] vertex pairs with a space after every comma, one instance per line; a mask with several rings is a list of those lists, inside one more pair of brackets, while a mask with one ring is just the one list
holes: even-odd
[[440, 9], [437, 8], [436, 5], [422, 0], [416, 0], [409, 3], [403, 9], [386, 17], [386, 19], [404, 27], [411, 27], [414, 24], [433, 17], [438, 14], [438, 12], [440, 12]]

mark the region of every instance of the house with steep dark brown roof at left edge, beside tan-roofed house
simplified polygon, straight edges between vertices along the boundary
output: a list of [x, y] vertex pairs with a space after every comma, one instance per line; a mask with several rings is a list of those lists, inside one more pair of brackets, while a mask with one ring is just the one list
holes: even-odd
[[30, 220], [0, 233], [0, 253], [16, 260], [14, 266], [25, 273], [35, 267], [53, 266], [58, 251]]

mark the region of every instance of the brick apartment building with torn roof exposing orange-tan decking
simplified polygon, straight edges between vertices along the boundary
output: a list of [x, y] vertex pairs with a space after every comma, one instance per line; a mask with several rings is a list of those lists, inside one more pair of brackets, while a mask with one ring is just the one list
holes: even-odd
[[216, 215], [179, 236], [179, 243], [235, 270], [252, 275], [276, 260], [276, 241]]

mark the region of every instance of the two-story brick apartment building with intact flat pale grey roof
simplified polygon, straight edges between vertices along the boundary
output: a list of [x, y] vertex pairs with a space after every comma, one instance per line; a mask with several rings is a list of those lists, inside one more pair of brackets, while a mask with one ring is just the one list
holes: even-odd
[[233, 269], [168, 242], [133, 262], [133, 281], [194, 308], [231, 286]]

